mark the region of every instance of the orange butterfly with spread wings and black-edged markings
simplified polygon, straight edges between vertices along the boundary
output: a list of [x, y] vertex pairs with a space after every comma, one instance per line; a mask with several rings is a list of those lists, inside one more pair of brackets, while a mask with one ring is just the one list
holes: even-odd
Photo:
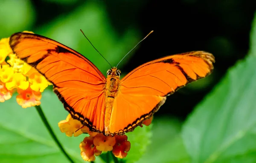
[[208, 52], [186, 52], [145, 63], [120, 79], [117, 67], [105, 77], [79, 52], [38, 34], [12, 34], [9, 44], [17, 57], [53, 84], [74, 119], [106, 136], [141, 126], [167, 96], [209, 75], [215, 62]]

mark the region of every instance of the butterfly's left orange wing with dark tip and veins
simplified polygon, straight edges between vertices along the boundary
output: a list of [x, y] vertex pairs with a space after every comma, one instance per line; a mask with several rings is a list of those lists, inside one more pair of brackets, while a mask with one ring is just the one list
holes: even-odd
[[65, 109], [91, 130], [104, 129], [106, 78], [87, 58], [47, 37], [16, 33], [10, 46], [54, 86]]

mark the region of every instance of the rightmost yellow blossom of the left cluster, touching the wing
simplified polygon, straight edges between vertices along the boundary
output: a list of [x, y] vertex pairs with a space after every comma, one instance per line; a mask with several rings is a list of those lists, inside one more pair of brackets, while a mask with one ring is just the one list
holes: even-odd
[[30, 88], [37, 92], [44, 92], [44, 89], [48, 86], [48, 81], [39, 72], [34, 72], [29, 75]]

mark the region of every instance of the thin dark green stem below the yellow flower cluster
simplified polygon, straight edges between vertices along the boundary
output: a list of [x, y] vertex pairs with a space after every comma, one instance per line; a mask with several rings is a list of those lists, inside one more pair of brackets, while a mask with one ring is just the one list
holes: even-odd
[[74, 163], [74, 161], [71, 159], [71, 157], [67, 154], [67, 152], [64, 150], [64, 148], [62, 147], [61, 143], [59, 142], [58, 138], [55, 136], [51, 126], [49, 125], [44, 112], [41, 108], [41, 106], [35, 106], [36, 110], [38, 111], [38, 114], [41, 117], [41, 120], [44, 122], [44, 125], [46, 126], [47, 130], [49, 131], [50, 135], [52, 136], [53, 140], [55, 141], [55, 143], [58, 145], [59, 149], [61, 150], [61, 152], [67, 157], [67, 159], [70, 161], [70, 163]]

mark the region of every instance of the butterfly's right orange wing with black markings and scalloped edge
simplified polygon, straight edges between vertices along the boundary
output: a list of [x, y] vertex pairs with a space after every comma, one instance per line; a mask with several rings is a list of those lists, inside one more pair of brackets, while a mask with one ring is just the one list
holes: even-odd
[[192, 51], [145, 63], [128, 73], [119, 84], [110, 132], [124, 134], [134, 130], [157, 112], [166, 96], [209, 75], [213, 62], [212, 54]]

